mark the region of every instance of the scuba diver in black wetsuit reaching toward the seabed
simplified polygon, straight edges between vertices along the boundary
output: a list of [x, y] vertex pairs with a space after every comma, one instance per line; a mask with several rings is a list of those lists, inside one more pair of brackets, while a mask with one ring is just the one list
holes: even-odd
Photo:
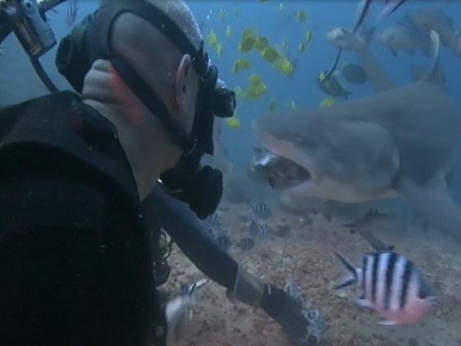
[[[40, 36], [43, 13], [6, 4], [14, 21], [2, 28], [31, 47], [21, 35]], [[187, 5], [102, 1], [62, 40], [57, 67], [79, 94], [0, 112], [0, 345], [166, 345], [162, 229], [234, 298], [315, 345], [318, 315], [245, 272], [196, 219], [221, 199], [221, 172], [200, 161], [235, 96], [216, 87]]]

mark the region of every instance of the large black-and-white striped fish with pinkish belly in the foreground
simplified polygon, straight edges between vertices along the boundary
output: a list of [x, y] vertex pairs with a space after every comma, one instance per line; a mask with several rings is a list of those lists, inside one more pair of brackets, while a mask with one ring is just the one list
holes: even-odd
[[395, 252], [366, 254], [362, 267], [355, 268], [347, 259], [335, 254], [352, 275], [334, 289], [360, 286], [360, 306], [371, 308], [386, 320], [380, 325], [416, 323], [438, 302], [413, 262]]

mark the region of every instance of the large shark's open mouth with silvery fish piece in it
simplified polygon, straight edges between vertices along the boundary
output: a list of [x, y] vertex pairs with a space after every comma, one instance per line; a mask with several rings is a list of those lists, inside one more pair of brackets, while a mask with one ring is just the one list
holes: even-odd
[[260, 148], [253, 152], [252, 171], [274, 189], [288, 189], [312, 179], [309, 171], [296, 162]]

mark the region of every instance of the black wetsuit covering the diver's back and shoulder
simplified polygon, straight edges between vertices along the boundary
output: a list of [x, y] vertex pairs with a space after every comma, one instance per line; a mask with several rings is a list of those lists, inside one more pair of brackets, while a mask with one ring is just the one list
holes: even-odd
[[165, 321], [116, 128], [62, 92], [0, 136], [0, 345], [147, 345]]

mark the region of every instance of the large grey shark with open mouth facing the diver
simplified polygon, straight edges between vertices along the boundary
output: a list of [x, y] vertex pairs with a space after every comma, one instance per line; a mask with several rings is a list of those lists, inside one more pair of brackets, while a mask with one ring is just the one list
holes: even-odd
[[[433, 66], [417, 83], [255, 121], [267, 150], [285, 165], [296, 164], [284, 168], [284, 182], [280, 175], [272, 182], [296, 199], [361, 203], [404, 196], [433, 225], [461, 240], [461, 211], [448, 191], [460, 114], [445, 94], [435, 31], [431, 44]], [[293, 172], [291, 181], [286, 172]]]

